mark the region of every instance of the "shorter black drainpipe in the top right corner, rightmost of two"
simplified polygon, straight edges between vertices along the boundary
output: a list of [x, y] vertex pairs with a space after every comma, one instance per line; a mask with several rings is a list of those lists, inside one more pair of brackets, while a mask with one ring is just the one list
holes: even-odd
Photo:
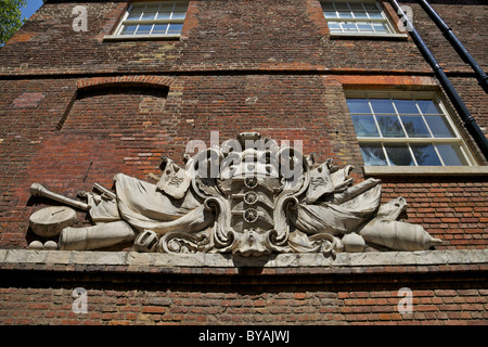
[[464, 63], [470, 64], [476, 74], [476, 79], [483, 90], [488, 93], [488, 76], [485, 74], [483, 68], [476, 63], [470, 52], [464, 48], [463, 43], [458, 39], [452, 29], [442, 21], [442, 18], [437, 14], [436, 11], [431, 7], [431, 4], [425, 0], [419, 0], [420, 5], [428, 14], [431, 20], [437, 25], [437, 27], [442, 33], [444, 37], [452, 44], [454, 50], [458, 52], [459, 56], [464, 61]]

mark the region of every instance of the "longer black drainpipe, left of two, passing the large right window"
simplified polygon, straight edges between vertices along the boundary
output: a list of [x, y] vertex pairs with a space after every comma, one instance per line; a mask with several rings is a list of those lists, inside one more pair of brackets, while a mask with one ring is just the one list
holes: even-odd
[[485, 134], [483, 133], [481, 129], [479, 128], [478, 124], [476, 123], [475, 118], [471, 115], [470, 111], [467, 110], [464, 102], [461, 100], [461, 97], [455, 91], [454, 87], [452, 86], [449, 78], [446, 76], [446, 73], [442, 70], [440, 65], [437, 63], [436, 59], [432, 54], [431, 50], [427, 48], [425, 42], [422, 40], [421, 36], [416, 31], [416, 29], [413, 27], [413, 24], [410, 22], [410, 20], [404, 14], [403, 10], [401, 10], [400, 5], [396, 0], [390, 0], [393, 7], [395, 8], [395, 11], [397, 11], [400, 20], [403, 18], [404, 21], [404, 27], [409, 29], [409, 33], [415, 42], [416, 47], [421, 51], [424, 59], [427, 61], [427, 63], [431, 65], [431, 67], [434, 69], [434, 74], [436, 75], [437, 79], [440, 81], [440, 85], [444, 87], [446, 93], [449, 97], [449, 100], [452, 102], [455, 111], [458, 111], [459, 115], [461, 116], [461, 119], [463, 120], [463, 125], [466, 128], [466, 130], [471, 133], [473, 139], [475, 140], [476, 144], [479, 146], [479, 150], [481, 151], [485, 158], [488, 160], [488, 140], [486, 139]]

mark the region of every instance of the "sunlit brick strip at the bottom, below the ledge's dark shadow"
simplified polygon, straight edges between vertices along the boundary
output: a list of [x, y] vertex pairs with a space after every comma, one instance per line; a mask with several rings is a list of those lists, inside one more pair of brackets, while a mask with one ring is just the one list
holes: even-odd
[[[0, 288], [0, 323], [133, 324], [486, 324], [486, 290], [413, 291], [412, 313], [397, 309], [398, 290], [328, 292], [278, 288], [240, 293], [88, 288], [88, 312], [72, 310], [73, 288]], [[301, 292], [303, 291], [303, 292]]]

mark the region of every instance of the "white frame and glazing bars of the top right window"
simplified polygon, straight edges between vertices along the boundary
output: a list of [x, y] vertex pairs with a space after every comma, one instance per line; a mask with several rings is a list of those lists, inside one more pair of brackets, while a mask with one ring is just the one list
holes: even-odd
[[[377, 0], [362, 0], [362, 1], [355, 1], [355, 0], [331, 0], [331, 1], [325, 1], [322, 0], [321, 2], [322, 5], [322, 11], [323, 11], [323, 15], [325, 17], [325, 21], [328, 21], [328, 26], [330, 28], [330, 36], [331, 37], [383, 37], [383, 38], [408, 38], [407, 34], [401, 34], [401, 33], [397, 33], [395, 29], [394, 24], [390, 22], [390, 20], [386, 16], [385, 11], [383, 10], [382, 5], [380, 4], [380, 2]], [[325, 11], [324, 11], [324, 3], [332, 3], [333, 7], [335, 8], [335, 4], [338, 3], [345, 3], [348, 4], [349, 9], [350, 9], [350, 3], [374, 3], [377, 8], [377, 10], [381, 12], [382, 18], [372, 18], [369, 16], [368, 11], [367, 15], [368, 18], [357, 18], [355, 17], [354, 11], [351, 10], [351, 18], [328, 18], [325, 16]], [[330, 27], [330, 22], [337, 22], [339, 24], [341, 27], [341, 31], [334, 31], [331, 29]], [[371, 33], [371, 31], [360, 31], [359, 27], [357, 26], [357, 30], [356, 31], [348, 31], [348, 30], [344, 30], [343, 28], [343, 23], [355, 23], [356, 26], [358, 23], [383, 23], [386, 24], [386, 27], [388, 29], [388, 33]]]

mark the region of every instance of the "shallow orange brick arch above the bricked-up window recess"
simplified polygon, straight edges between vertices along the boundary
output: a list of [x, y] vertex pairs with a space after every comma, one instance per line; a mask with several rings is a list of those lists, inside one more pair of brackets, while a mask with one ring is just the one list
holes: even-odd
[[124, 86], [139, 85], [155, 88], [169, 88], [176, 81], [172, 77], [151, 76], [151, 75], [133, 75], [133, 76], [111, 76], [111, 77], [92, 77], [79, 79], [76, 82], [78, 90], [95, 87], [95, 86]]

